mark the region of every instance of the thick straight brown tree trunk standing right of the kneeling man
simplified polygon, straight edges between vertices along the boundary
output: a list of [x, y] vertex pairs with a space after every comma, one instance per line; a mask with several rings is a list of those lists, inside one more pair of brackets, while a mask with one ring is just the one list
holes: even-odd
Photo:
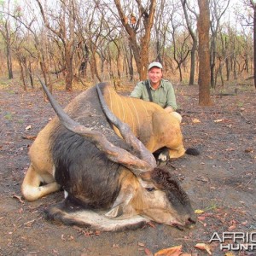
[[210, 11], [208, 0], [198, 0], [200, 15], [197, 20], [199, 37], [199, 105], [212, 105], [210, 97], [210, 49], [209, 49], [209, 30], [210, 30]]

